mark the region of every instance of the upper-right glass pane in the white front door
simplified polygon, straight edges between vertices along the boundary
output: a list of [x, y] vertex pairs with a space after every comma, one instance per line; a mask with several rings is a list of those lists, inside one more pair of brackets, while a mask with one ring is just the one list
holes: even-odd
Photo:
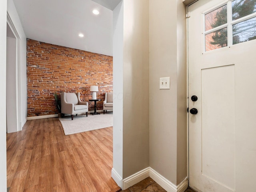
[[232, 1], [232, 19], [236, 20], [256, 12], [256, 0]]

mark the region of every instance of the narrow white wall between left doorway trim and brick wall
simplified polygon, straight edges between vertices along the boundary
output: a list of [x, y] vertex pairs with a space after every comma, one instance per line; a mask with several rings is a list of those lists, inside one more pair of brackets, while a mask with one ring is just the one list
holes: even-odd
[[20, 123], [20, 128], [24, 126], [27, 120], [27, 75], [26, 75], [26, 35], [22, 28], [20, 18], [14, 6], [12, 0], [7, 2], [7, 12], [10, 16], [12, 24], [14, 25], [18, 35], [20, 36], [20, 66], [18, 66], [18, 73], [20, 74], [20, 114], [18, 114], [18, 119]]

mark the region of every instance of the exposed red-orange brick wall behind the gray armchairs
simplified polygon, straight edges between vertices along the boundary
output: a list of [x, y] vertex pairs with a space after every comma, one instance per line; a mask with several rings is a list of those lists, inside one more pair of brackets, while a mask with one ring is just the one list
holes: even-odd
[[97, 109], [113, 90], [113, 58], [27, 39], [28, 116], [57, 114], [54, 93], [80, 92], [94, 110], [91, 85], [98, 85]]

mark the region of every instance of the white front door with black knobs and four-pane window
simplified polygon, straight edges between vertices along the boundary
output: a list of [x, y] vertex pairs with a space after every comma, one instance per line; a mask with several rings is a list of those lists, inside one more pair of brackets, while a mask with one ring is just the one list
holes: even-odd
[[188, 96], [190, 187], [255, 192], [256, 0], [188, 6]]

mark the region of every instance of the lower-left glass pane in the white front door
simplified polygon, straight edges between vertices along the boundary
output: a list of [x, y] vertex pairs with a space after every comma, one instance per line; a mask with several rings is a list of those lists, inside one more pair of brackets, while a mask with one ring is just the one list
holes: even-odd
[[227, 28], [205, 35], [205, 51], [210, 51], [228, 45]]

